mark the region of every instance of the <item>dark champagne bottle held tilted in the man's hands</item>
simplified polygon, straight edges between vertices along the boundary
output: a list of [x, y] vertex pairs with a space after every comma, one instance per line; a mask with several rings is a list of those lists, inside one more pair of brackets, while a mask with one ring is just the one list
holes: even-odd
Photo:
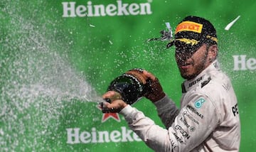
[[115, 97], [105, 99], [111, 102], [114, 99], [122, 99], [127, 104], [134, 104], [149, 91], [150, 80], [142, 75], [143, 70], [135, 68], [116, 77], [110, 83], [107, 91], [117, 92]]

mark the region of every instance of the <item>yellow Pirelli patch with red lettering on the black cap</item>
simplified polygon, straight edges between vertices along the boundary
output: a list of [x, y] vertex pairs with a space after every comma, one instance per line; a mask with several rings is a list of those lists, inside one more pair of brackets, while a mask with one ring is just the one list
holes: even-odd
[[178, 24], [175, 33], [181, 31], [191, 31], [196, 33], [201, 33], [203, 28], [203, 24], [195, 23], [193, 21], [183, 21], [182, 23]]

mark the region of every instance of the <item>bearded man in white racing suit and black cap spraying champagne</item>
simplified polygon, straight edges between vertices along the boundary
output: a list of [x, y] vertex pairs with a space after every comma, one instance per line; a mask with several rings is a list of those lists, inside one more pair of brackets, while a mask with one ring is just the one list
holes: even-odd
[[206, 19], [188, 16], [178, 23], [175, 39], [167, 46], [175, 45], [176, 63], [185, 79], [180, 109], [154, 75], [142, 72], [151, 80], [144, 96], [155, 104], [166, 129], [122, 99], [113, 99], [114, 91], [102, 96], [112, 99], [102, 112], [122, 114], [130, 129], [154, 151], [239, 151], [238, 101], [218, 65], [217, 43], [215, 28]]

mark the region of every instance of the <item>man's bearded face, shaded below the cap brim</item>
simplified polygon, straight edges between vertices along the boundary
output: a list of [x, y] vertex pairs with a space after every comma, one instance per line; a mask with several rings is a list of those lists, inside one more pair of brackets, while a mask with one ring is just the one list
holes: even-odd
[[209, 65], [208, 45], [203, 44], [196, 50], [183, 50], [182, 46], [176, 46], [176, 63], [181, 72], [181, 77], [191, 80], [199, 75]]

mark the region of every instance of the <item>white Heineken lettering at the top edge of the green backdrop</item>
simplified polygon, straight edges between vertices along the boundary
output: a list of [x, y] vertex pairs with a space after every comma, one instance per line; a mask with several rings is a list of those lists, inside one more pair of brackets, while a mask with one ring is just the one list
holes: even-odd
[[95, 17], [95, 16], [138, 16], [150, 15], [151, 4], [146, 3], [123, 3], [120, 0], [114, 4], [92, 4], [87, 1], [86, 4], [77, 4], [75, 1], [64, 1], [63, 17]]

